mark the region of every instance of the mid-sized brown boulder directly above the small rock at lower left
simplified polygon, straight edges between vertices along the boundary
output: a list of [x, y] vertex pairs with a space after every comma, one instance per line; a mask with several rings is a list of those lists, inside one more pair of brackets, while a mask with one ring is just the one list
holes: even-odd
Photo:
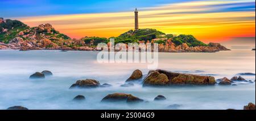
[[97, 88], [100, 87], [100, 82], [93, 79], [78, 80], [75, 84], [71, 85], [72, 88]]

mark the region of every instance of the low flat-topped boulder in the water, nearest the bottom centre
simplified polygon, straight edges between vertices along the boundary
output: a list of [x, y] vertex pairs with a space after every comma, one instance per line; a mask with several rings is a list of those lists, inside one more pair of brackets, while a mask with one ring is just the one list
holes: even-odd
[[101, 100], [101, 102], [127, 102], [127, 103], [135, 103], [135, 102], [142, 102], [142, 101], [143, 101], [142, 99], [126, 93], [109, 94], [108, 96], [104, 97]]

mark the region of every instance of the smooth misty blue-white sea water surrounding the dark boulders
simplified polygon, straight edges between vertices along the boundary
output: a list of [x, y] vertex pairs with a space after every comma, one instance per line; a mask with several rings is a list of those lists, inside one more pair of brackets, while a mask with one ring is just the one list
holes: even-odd
[[[0, 51], [0, 109], [21, 105], [28, 109], [167, 109], [178, 104], [177, 109], [243, 109], [255, 103], [255, 83], [237, 86], [143, 88], [120, 87], [135, 69], [149, 71], [145, 63], [97, 62], [98, 52], [35, 50]], [[231, 78], [242, 72], [255, 74], [255, 51], [232, 50], [218, 53], [159, 53], [159, 68], [189, 74], [210, 75], [216, 79]], [[30, 80], [34, 72], [49, 70], [52, 77]], [[255, 80], [253, 76], [243, 76]], [[113, 87], [97, 89], [69, 89], [79, 79], [96, 79]], [[107, 94], [122, 92], [148, 101], [137, 105], [126, 103], [101, 103]], [[73, 102], [77, 95], [83, 102]], [[166, 101], [154, 101], [162, 94]]]

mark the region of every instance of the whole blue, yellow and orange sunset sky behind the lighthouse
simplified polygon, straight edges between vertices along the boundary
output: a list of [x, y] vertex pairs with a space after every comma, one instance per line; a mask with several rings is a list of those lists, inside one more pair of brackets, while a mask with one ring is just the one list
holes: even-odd
[[72, 38], [112, 37], [139, 28], [164, 33], [193, 34], [204, 42], [255, 37], [255, 1], [175, 0], [0, 0], [0, 17], [17, 19], [31, 27], [50, 23]]

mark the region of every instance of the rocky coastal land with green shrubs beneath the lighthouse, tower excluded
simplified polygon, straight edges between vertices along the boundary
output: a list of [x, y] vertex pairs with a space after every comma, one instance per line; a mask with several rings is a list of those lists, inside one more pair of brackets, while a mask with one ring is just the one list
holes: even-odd
[[[192, 35], [166, 34], [156, 29], [137, 29], [121, 34], [115, 38], [115, 43], [128, 44], [158, 43], [160, 52], [216, 52], [229, 50], [226, 47], [210, 42], [204, 44]], [[38, 27], [28, 25], [18, 20], [0, 18], [0, 50], [97, 50], [96, 46], [104, 42], [109, 43], [104, 37], [83, 37], [80, 39], [70, 38], [56, 31], [51, 24], [41, 24]]]

